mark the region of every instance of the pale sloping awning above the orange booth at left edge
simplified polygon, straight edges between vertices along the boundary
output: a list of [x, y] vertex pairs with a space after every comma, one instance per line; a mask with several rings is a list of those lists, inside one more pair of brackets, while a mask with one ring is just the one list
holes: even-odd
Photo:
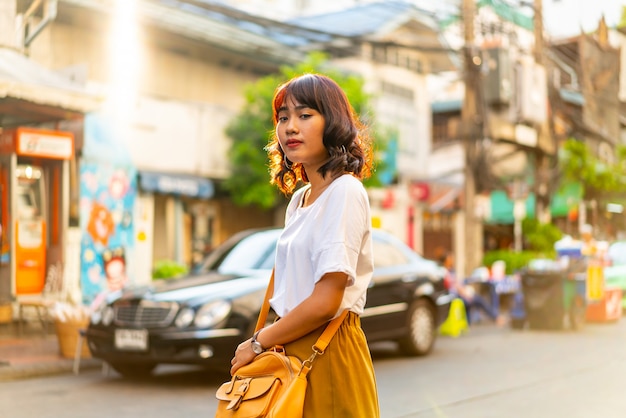
[[0, 47], [0, 126], [72, 119], [99, 108], [102, 100], [81, 84]]

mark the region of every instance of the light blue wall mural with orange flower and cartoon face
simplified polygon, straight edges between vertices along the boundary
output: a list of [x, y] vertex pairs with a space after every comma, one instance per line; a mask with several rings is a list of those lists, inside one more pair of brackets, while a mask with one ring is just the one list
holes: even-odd
[[128, 272], [132, 271], [137, 175], [109, 126], [101, 115], [90, 115], [85, 123], [80, 227], [81, 287], [86, 304], [132, 282]]

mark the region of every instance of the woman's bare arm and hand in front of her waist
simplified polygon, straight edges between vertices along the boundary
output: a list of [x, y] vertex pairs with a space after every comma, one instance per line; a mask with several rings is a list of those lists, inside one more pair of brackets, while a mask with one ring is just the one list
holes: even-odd
[[[335, 316], [341, 306], [347, 284], [348, 275], [345, 273], [325, 274], [313, 288], [311, 296], [280, 321], [263, 328], [257, 336], [257, 341], [263, 347], [270, 348], [297, 340], [324, 325]], [[247, 339], [237, 347], [235, 357], [231, 361], [231, 374], [250, 363], [256, 356], [252, 351], [250, 340]]]

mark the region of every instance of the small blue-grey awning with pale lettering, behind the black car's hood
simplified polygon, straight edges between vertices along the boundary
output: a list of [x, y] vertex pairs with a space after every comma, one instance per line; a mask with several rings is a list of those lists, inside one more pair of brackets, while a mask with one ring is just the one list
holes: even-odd
[[139, 172], [139, 186], [146, 192], [208, 199], [215, 194], [213, 182], [204, 177], [184, 174]]

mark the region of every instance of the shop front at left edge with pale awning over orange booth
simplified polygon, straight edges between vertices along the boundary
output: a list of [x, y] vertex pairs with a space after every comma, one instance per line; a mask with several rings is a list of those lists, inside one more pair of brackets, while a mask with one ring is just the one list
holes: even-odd
[[[67, 291], [71, 171], [84, 115], [101, 98], [0, 48], [0, 307]], [[74, 274], [76, 273], [76, 274]], [[10, 319], [11, 315], [7, 315]]]

